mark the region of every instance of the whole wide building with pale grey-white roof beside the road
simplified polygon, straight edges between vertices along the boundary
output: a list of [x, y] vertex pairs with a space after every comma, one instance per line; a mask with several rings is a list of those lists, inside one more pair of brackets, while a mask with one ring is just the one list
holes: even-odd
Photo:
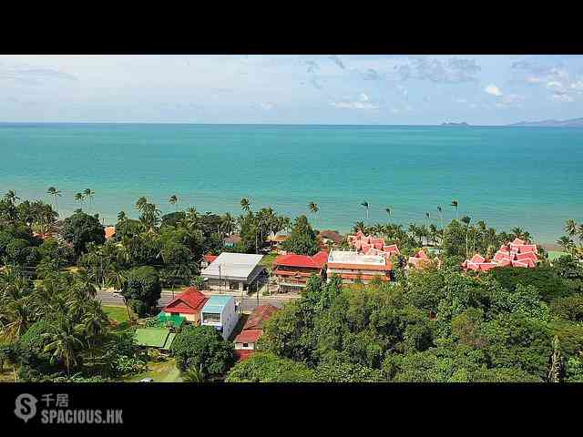
[[262, 255], [222, 252], [200, 273], [210, 290], [254, 291], [262, 281]]

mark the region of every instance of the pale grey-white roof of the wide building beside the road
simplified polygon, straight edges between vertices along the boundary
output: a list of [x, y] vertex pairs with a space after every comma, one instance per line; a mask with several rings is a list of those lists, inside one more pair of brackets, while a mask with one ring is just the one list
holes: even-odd
[[200, 276], [209, 279], [251, 281], [260, 273], [263, 255], [222, 252]]

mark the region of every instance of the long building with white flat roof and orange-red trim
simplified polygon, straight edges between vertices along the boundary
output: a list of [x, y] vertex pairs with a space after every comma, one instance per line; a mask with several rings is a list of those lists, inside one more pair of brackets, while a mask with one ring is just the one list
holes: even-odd
[[378, 278], [391, 280], [393, 264], [382, 255], [364, 255], [352, 250], [332, 250], [328, 257], [328, 280], [333, 274], [340, 275], [343, 283], [350, 284], [361, 280], [368, 283]]

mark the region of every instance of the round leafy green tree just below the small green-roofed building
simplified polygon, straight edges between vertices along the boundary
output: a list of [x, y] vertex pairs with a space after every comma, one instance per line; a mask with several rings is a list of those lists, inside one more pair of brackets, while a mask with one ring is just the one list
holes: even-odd
[[209, 377], [222, 375], [235, 361], [234, 346], [210, 326], [187, 326], [172, 342], [171, 351], [181, 371], [199, 369]]

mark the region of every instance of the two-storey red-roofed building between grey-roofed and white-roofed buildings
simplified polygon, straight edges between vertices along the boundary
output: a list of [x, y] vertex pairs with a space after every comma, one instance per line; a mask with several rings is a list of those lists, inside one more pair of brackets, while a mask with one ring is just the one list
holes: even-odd
[[273, 262], [273, 274], [281, 292], [301, 291], [312, 273], [322, 275], [328, 261], [328, 253], [321, 250], [312, 257], [288, 253]]

